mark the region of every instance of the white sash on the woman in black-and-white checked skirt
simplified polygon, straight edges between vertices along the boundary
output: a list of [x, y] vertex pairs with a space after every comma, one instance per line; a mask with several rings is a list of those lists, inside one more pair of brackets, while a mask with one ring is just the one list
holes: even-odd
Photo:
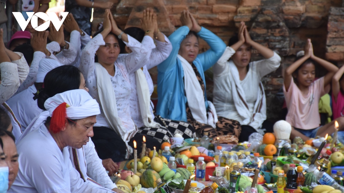
[[158, 128], [161, 125], [154, 121], [150, 112], [150, 92], [146, 76], [141, 69], [135, 72], [136, 90], [139, 98], [140, 112], [144, 126]]

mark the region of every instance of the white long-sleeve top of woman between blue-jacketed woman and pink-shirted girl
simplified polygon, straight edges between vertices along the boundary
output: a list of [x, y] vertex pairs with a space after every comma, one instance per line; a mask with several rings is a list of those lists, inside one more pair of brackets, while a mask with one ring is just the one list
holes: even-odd
[[[244, 121], [244, 117], [241, 117], [236, 110], [232, 92], [237, 92], [229, 81], [229, 76], [232, 74], [229, 72], [229, 58], [235, 54], [235, 50], [232, 47], [226, 48], [222, 57], [213, 66], [214, 72], [214, 98], [213, 103], [216, 108], [218, 116], [223, 116], [233, 120], [237, 120], [240, 123]], [[253, 61], [249, 63], [249, 70], [244, 80], [240, 81], [240, 84], [245, 92], [245, 99], [248, 104], [250, 112], [253, 113], [255, 103], [258, 98], [258, 90], [261, 78], [270, 72], [276, 70], [281, 62], [281, 57], [274, 52], [271, 58], [263, 59], [259, 61]]]

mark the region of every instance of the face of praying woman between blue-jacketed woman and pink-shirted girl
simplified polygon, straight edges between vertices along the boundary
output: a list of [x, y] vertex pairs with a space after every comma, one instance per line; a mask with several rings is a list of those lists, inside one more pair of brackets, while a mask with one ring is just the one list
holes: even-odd
[[233, 62], [237, 67], [247, 67], [251, 60], [251, 46], [244, 43], [241, 45], [232, 56]]

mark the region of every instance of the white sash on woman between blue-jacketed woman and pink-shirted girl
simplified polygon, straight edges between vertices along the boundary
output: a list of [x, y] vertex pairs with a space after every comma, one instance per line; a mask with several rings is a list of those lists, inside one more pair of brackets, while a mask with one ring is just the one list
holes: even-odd
[[241, 125], [250, 125], [257, 130], [258, 133], [264, 135], [264, 129], [261, 129], [261, 124], [266, 120], [266, 98], [262, 82], [259, 84], [258, 98], [255, 103], [253, 113], [250, 112], [246, 95], [243, 87], [240, 84], [239, 71], [238, 68], [233, 63], [233, 60], [228, 62], [229, 64], [229, 73], [232, 76], [229, 76], [229, 82], [232, 86], [232, 96], [236, 110], [240, 116], [244, 117], [245, 120], [241, 122]]

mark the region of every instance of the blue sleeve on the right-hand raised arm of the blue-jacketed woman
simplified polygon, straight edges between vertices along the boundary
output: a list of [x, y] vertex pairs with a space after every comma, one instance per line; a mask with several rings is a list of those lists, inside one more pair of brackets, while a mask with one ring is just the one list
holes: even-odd
[[221, 58], [222, 54], [225, 52], [226, 44], [221, 38], [204, 27], [202, 27], [202, 30], [198, 32], [197, 35], [204, 39], [210, 46], [210, 49], [197, 56], [202, 62], [203, 70], [206, 71]]

